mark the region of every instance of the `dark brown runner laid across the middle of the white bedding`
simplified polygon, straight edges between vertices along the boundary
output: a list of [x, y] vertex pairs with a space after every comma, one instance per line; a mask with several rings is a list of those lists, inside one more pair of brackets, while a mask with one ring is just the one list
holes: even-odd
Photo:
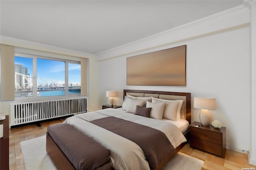
[[174, 151], [170, 140], [160, 130], [111, 116], [90, 122], [138, 144], [151, 170]]

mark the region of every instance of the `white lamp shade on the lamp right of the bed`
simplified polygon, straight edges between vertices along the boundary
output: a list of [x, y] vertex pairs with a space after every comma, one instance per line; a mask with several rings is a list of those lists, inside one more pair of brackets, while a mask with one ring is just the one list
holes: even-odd
[[215, 98], [194, 97], [194, 108], [215, 110], [216, 109], [216, 99]]

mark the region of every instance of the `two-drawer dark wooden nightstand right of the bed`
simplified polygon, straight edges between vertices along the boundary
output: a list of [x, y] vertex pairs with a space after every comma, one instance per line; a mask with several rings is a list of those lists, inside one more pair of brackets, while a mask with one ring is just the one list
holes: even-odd
[[[196, 125], [200, 125], [196, 127]], [[226, 153], [226, 127], [202, 126], [199, 122], [190, 124], [190, 146], [218, 155]]]

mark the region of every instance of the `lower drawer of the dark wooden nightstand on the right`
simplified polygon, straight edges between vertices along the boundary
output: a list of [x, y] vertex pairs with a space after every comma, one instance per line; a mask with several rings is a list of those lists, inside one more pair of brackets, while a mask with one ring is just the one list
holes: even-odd
[[212, 142], [207, 142], [205, 140], [200, 140], [198, 138], [190, 137], [190, 146], [205, 150], [212, 154], [222, 156], [222, 145], [214, 144]]

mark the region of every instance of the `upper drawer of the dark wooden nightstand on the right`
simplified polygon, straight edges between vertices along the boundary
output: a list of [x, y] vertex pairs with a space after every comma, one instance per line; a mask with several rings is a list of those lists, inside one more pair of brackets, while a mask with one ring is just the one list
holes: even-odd
[[201, 129], [200, 127], [190, 127], [190, 135], [215, 144], [222, 144], [222, 133]]

